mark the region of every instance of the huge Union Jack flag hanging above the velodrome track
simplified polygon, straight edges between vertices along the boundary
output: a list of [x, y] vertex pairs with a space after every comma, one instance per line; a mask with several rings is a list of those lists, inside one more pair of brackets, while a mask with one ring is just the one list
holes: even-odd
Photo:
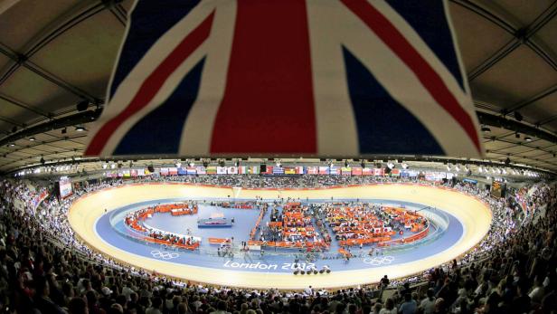
[[479, 157], [444, 1], [137, 1], [89, 156]]

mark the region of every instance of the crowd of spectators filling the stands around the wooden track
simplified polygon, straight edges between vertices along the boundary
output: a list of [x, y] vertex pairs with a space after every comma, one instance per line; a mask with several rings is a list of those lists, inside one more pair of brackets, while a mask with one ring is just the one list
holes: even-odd
[[[280, 177], [276, 184], [260, 176], [179, 179], [184, 177], [194, 183], [246, 187], [357, 184], [345, 176], [301, 176], [294, 183]], [[365, 180], [369, 181], [360, 183], [372, 182], [372, 178]], [[409, 281], [391, 281], [385, 287], [395, 292], [378, 295], [373, 285], [336, 291], [217, 288], [169, 281], [119, 265], [81, 244], [66, 214], [82, 193], [121, 184], [122, 180], [90, 184], [61, 202], [51, 196], [35, 209], [30, 204], [41, 189], [2, 182], [0, 312], [464, 314], [555, 313], [557, 309], [554, 186], [528, 186], [507, 199], [496, 199], [475, 186], [458, 184], [456, 188], [479, 196], [492, 208], [494, 223], [484, 241], [460, 261], [411, 278], [420, 281], [415, 287]], [[16, 199], [23, 201], [24, 208], [16, 208]], [[528, 205], [526, 211], [521, 203]], [[543, 217], [534, 221], [535, 209], [542, 206]]]

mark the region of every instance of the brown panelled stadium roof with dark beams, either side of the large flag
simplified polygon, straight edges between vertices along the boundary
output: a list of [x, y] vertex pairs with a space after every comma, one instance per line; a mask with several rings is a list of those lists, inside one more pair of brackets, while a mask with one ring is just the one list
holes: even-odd
[[[132, 4], [0, 1], [0, 172], [82, 155]], [[486, 158], [557, 172], [557, 1], [449, 9]]]

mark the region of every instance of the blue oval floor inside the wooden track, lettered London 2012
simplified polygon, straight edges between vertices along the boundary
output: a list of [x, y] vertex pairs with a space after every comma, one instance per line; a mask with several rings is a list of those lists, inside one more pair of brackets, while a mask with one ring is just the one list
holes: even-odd
[[[255, 224], [259, 215], [259, 210], [200, 205], [199, 214], [196, 215], [171, 216], [170, 214], [155, 214], [146, 222], [151, 227], [173, 233], [186, 233], [186, 230], [190, 228], [194, 236], [200, 236], [203, 239], [198, 251], [188, 252], [172, 248], [165, 249], [159, 244], [145, 243], [132, 239], [127, 235], [129, 231], [123, 223], [123, 218], [127, 213], [149, 205], [181, 202], [184, 200], [184, 198], [158, 199], [120, 207], [117, 210], [100, 216], [95, 224], [95, 232], [103, 242], [118, 250], [153, 260], [229, 271], [256, 272], [292, 272], [296, 258], [299, 258], [302, 267], [306, 266], [309, 268], [310, 265], [315, 265], [317, 269], [321, 269], [324, 265], [328, 265], [333, 271], [362, 270], [415, 262], [448, 250], [448, 248], [458, 243], [464, 234], [463, 224], [455, 216], [442, 210], [428, 208], [423, 209], [422, 213], [442, 216], [447, 225], [437, 226], [434, 231], [430, 232], [428, 237], [416, 243], [381, 249], [379, 254], [375, 252], [373, 256], [367, 255], [369, 248], [364, 247], [363, 251], [360, 251], [359, 248], [354, 247], [352, 252], [356, 257], [352, 258], [349, 262], [338, 258], [338, 254], [335, 253], [338, 248], [335, 245], [335, 241], [329, 252], [320, 254], [315, 260], [313, 258], [307, 260], [305, 252], [299, 253], [292, 250], [279, 250], [275, 252], [274, 249], [269, 249], [269, 252], [266, 251], [263, 254], [252, 251], [248, 254], [236, 253], [234, 257], [221, 257], [217, 255], [216, 247], [208, 244], [206, 238], [229, 238], [233, 236], [234, 243], [247, 241], [250, 229]], [[335, 200], [335, 202], [337, 201], [345, 200]], [[375, 204], [405, 205], [409, 209], [426, 207], [408, 202], [393, 202], [381, 199], [360, 199], [360, 201]], [[319, 202], [319, 200], [310, 200], [310, 202]], [[227, 218], [234, 217], [235, 224], [229, 228], [197, 228], [197, 220], [199, 218], [208, 218], [214, 213], [222, 213]], [[269, 214], [264, 217], [261, 224], [264, 225], [268, 220]]]

